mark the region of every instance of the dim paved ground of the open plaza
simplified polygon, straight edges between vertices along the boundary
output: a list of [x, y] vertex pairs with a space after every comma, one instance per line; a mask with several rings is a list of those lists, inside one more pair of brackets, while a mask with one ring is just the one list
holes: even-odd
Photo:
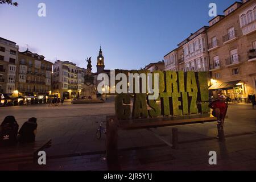
[[[37, 140], [52, 139], [47, 148], [49, 164], [44, 169], [106, 169], [105, 135], [95, 138], [99, 123], [114, 114], [113, 98], [104, 104], [49, 107], [13, 106], [0, 108], [0, 119], [14, 115], [19, 125], [38, 118]], [[225, 120], [226, 142], [216, 139], [216, 123], [177, 126], [179, 149], [174, 150], [146, 129], [118, 131], [122, 169], [256, 169], [256, 109], [251, 105], [229, 105]], [[154, 129], [171, 141], [172, 127]], [[208, 164], [208, 152], [217, 152], [218, 164]]]

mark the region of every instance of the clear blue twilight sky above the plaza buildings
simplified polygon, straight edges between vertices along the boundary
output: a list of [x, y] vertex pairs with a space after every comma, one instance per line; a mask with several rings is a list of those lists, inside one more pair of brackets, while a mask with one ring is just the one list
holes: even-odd
[[[72, 61], [93, 72], [102, 46], [105, 69], [139, 69], [163, 59], [191, 32], [208, 26], [208, 5], [217, 13], [233, 0], [14, 0], [18, 7], [0, 5], [0, 36], [16, 42], [20, 51], [46, 60]], [[46, 3], [46, 17], [38, 4]]]

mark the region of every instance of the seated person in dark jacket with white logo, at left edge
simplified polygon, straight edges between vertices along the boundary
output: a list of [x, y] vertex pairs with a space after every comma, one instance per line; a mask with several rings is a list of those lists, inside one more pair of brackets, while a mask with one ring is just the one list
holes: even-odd
[[13, 146], [17, 143], [19, 125], [13, 115], [8, 115], [0, 125], [0, 147]]

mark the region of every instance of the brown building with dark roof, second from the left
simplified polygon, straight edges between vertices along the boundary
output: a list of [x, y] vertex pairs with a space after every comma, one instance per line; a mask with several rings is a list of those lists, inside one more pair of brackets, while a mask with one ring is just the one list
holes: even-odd
[[52, 63], [31, 51], [19, 52], [16, 90], [44, 99], [51, 91]]

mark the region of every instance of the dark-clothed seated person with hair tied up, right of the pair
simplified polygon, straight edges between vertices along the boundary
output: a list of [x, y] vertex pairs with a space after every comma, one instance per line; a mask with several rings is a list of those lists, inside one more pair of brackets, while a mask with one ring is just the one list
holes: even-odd
[[38, 124], [36, 123], [36, 118], [30, 118], [27, 122], [24, 122], [19, 130], [19, 142], [20, 143], [30, 143], [35, 142], [36, 129]]

